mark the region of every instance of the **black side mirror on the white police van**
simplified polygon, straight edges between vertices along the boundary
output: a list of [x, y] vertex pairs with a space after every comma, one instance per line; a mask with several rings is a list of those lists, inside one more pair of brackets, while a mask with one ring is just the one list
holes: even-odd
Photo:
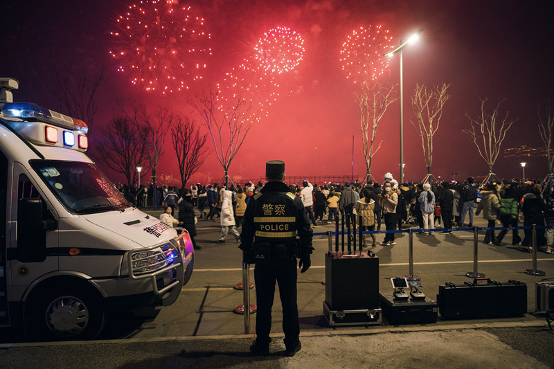
[[40, 199], [19, 199], [17, 206], [17, 260], [46, 260], [46, 224], [42, 219]]

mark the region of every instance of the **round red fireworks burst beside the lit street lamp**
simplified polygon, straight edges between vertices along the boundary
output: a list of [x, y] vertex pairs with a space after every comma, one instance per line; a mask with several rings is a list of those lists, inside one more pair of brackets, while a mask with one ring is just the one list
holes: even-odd
[[346, 72], [346, 78], [354, 83], [369, 78], [375, 80], [382, 75], [389, 62], [383, 54], [394, 48], [388, 30], [383, 30], [381, 26], [352, 30], [342, 46], [342, 70]]

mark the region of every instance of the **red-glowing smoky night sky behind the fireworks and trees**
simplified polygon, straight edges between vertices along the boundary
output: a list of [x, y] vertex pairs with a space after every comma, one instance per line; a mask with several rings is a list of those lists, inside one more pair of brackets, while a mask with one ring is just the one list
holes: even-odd
[[[554, 26], [550, 1], [179, 1], [191, 14], [205, 19], [203, 29], [211, 34], [204, 55], [202, 80], [190, 81], [186, 92], [163, 96], [147, 92], [117, 71], [109, 51], [117, 47], [116, 19], [133, 1], [4, 1], [0, 60], [2, 77], [16, 78], [17, 101], [36, 102], [64, 112], [51, 93], [53, 69], [67, 73], [106, 68], [107, 83], [98, 98], [91, 145], [101, 145], [102, 125], [118, 114], [117, 99], [133, 98], [152, 111], [168, 106], [195, 118], [187, 104], [210, 85], [221, 82], [253, 53], [263, 33], [278, 26], [296, 31], [304, 40], [303, 59], [294, 71], [280, 75], [280, 96], [267, 117], [251, 129], [231, 164], [232, 177], [258, 180], [265, 161], [282, 159], [287, 175], [350, 175], [352, 136], [355, 179], [361, 179], [365, 162], [361, 151], [357, 85], [341, 70], [339, 52], [346, 36], [359, 27], [390, 30], [393, 44], [422, 28], [417, 43], [403, 51], [404, 59], [404, 161], [405, 177], [420, 181], [427, 170], [419, 136], [411, 125], [411, 94], [416, 83], [451, 83], [452, 98], [445, 105], [435, 136], [433, 174], [442, 179], [468, 175], [484, 176], [488, 165], [472, 141], [462, 132], [469, 127], [466, 112], [479, 116], [479, 98], [489, 98], [490, 107], [506, 98], [501, 111], [518, 118], [503, 143], [503, 149], [542, 146], [537, 109], [554, 98], [552, 85]], [[135, 2], [138, 3], [138, 2]], [[397, 55], [391, 59], [382, 82], [399, 83]], [[374, 157], [372, 174], [379, 181], [385, 172], [399, 177], [399, 102], [388, 108], [379, 124], [377, 141], [383, 147]], [[166, 141], [159, 172], [178, 178], [177, 159], [170, 138]], [[526, 161], [526, 177], [544, 177], [546, 158], [499, 156], [495, 172], [500, 177], [521, 177], [520, 161]], [[118, 176], [106, 170], [118, 180]], [[215, 152], [193, 177], [194, 181], [217, 181], [222, 169]]]

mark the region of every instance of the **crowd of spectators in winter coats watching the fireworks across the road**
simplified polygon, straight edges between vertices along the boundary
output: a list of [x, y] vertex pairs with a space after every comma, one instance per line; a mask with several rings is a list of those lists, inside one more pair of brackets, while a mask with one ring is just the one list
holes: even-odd
[[[472, 177], [466, 181], [432, 183], [397, 183], [391, 173], [386, 173], [381, 183], [359, 181], [350, 183], [310, 183], [290, 184], [290, 192], [300, 197], [313, 226], [322, 222], [334, 223], [339, 214], [349, 220], [361, 217], [365, 231], [380, 231], [382, 225], [387, 231], [402, 229], [406, 224], [418, 226], [421, 234], [433, 235], [434, 229], [443, 228], [441, 233], [452, 234], [454, 227], [472, 227], [474, 217], [482, 214], [487, 228], [523, 226], [554, 226], [554, 193], [544, 191], [541, 181], [499, 181], [479, 186]], [[165, 207], [161, 220], [170, 226], [184, 226], [189, 233], [196, 235], [194, 210], [204, 221], [216, 222], [219, 218], [222, 231], [217, 242], [223, 244], [231, 233], [240, 240], [238, 228], [247, 208], [250, 197], [263, 187], [259, 181], [244, 186], [234, 186], [226, 190], [223, 186], [193, 184], [179, 190], [165, 186], [157, 188], [159, 207]], [[141, 186], [139, 190], [124, 186], [123, 195], [128, 201], [140, 206], [153, 206], [154, 189]], [[179, 192], [179, 194], [177, 193]], [[179, 216], [174, 217], [175, 208]], [[468, 222], [466, 222], [466, 220]], [[352, 219], [353, 221], [353, 219]], [[517, 229], [513, 229], [511, 240], [505, 240], [508, 231], [498, 234], [486, 231], [483, 242], [501, 246], [503, 242], [522, 245], [530, 249], [532, 231], [524, 230], [521, 239]], [[537, 246], [546, 253], [552, 253], [554, 231], [552, 228], [537, 228]], [[376, 246], [375, 234], [370, 235], [371, 246]], [[193, 241], [195, 247], [200, 246]], [[362, 246], [368, 246], [366, 237]], [[395, 245], [395, 233], [386, 233], [383, 246]]]

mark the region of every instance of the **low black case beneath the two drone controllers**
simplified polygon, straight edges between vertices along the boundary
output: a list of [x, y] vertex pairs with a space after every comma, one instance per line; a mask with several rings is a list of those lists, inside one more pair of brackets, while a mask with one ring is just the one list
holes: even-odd
[[381, 309], [383, 318], [388, 323], [397, 324], [422, 324], [436, 323], [437, 321], [437, 303], [431, 298], [425, 300], [414, 300], [410, 298], [406, 301], [399, 301], [394, 298], [392, 292], [382, 292]]

